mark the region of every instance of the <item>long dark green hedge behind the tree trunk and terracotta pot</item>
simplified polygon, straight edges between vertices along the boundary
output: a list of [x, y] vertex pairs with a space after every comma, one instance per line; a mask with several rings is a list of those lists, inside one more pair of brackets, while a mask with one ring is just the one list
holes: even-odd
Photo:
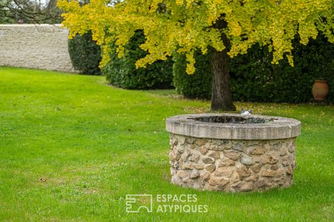
[[[268, 49], [255, 45], [247, 54], [230, 59], [234, 100], [305, 103], [312, 100], [311, 89], [315, 79], [327, 80], [330, 89], [334, 89], [334, 44], [328, 43], [322, 36], [311, 40], [307, 46], [296, 40], [293, 56], [294, 67], [286, 59], [280, 61], [279, 65], [272, 65]], [[179, 58], [180, 56], [175, 60], [177, 62], [173, 71], [177, 92], [187, 97], [196, 95], [198, 98], [209, 98], [209, 54], [196, 56], [198, 65], [194, 76], [199, 74], [197, 78], [186, 76], [185, 60]], [[203, 63], [207, 65], [202, 65]], [[327, 99], [334, 102], [334, 90], [330, 91]]]

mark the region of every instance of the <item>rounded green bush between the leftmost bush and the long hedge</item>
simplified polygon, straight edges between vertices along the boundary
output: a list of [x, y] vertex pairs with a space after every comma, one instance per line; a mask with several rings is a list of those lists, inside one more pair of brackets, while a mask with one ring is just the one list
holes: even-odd
[[173, 60], [157, 61], [146, 68], [136, 69], [135, 62], [147, 52], [139, 48], [145, 42], [142, 31], [137, 31], [125, 46], [125, 56], [118, 58], [116, 46], [113, 45], [110, 62], [102, 73], [112, 85], [125, 89], [167, 89], [172, 87]]

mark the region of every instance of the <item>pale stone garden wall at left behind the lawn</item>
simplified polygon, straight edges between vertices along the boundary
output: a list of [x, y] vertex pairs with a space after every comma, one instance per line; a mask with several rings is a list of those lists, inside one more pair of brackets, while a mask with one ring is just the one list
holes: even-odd
[[0, 66], [74, 71], [59, 24], [1, 24]]

